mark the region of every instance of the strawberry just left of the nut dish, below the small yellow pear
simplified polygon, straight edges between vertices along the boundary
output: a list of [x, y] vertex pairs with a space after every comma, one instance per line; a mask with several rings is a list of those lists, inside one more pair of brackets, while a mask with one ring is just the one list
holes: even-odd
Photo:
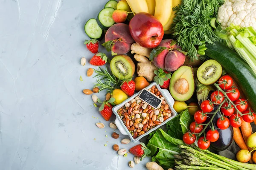
[[106, 120], [109, 121], [109, 119], [112, 116], [112, 108], [113, 106], [111, 103], [115, 101], [115, 98], [110, 98], [108, 101], [101, 102], [100, 99], [98, 99], [99, 103], [102, 103], [102, 105], [99, 108], [99, 113], [101, 113], [102, 117]]

